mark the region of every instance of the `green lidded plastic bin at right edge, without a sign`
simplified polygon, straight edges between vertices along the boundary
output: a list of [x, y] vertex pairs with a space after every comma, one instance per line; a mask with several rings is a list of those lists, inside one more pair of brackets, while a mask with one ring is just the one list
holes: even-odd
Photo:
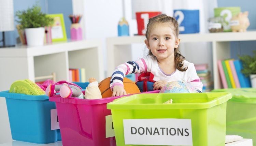
[[230, 92], [227, 102], [226, 134], [252, 138], [256, 146], [256, 88], [215, 89], [211, 92]]

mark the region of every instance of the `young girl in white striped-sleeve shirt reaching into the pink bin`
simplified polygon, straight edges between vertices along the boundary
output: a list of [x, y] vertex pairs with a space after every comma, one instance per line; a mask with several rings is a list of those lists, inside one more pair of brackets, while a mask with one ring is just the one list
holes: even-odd
[[202, 91], [202, 82], [193, 63], [185, 60], [179, 51], [179, 24], [173, 17], [160, 14], [148, 20], [145, 44], [148, 56], [129, 61], [115, 68], [110, 80], [112, 96], [122, 96], [123, 78], [131, 73], [151, 72], [154, 74], [154, 90], [161, 89], [172, 81], [190, 83], [198, 92]]

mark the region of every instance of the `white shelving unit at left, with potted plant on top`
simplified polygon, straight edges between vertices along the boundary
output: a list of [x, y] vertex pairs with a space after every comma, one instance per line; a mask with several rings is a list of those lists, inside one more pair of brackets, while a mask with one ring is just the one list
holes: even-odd
[[104, 79], [102, 43], [98, 40], [58, 42], [28, 47], [0, 49], [0, 91], [9, 90], [20, 79], [35, 81], [35, 77], [56, 73], [56, 81], [69, 80], [69, 68], [85, 68], [86, 81]]

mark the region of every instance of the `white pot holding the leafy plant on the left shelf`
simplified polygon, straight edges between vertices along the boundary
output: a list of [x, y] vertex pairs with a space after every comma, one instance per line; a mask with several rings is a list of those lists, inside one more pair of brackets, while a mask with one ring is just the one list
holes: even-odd
[[42, 46], [44, 45], [44, 31], [43, 27], [25, 28], [26, 40], [28, 46]]

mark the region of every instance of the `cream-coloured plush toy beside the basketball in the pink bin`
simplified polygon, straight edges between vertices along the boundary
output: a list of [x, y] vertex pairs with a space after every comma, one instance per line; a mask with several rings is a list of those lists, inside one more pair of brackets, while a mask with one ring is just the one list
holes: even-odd
[[99, 83], [94, 77], [89, 78], [89, 85], [85, 89], [85, 99], [101, 99], [101, 92], [98, 87]]

